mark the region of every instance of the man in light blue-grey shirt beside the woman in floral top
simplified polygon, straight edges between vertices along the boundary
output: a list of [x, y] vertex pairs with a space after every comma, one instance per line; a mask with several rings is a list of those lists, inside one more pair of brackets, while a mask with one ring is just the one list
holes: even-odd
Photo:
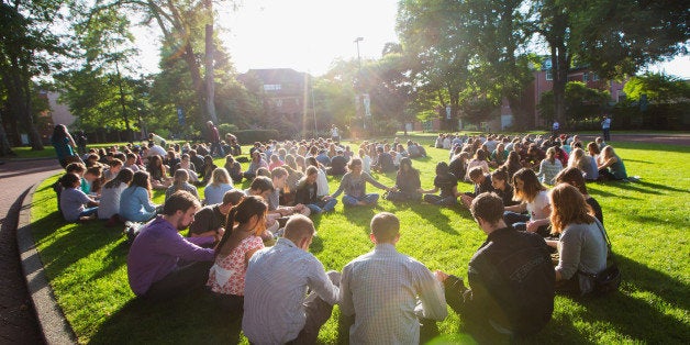
[[285, 237], [249, 259], [242, 331], [251, 343], [314, 344], [319, 330], [331, 318], [340, 274], [326, 275], [308, 252], [314, 234], [311, 220], [294, 215], [286, 224]]

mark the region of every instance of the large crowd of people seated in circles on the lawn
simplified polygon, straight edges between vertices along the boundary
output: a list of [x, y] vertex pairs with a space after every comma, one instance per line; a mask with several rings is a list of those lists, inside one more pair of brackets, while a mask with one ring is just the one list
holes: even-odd
[[[65, 166], [59, 208], [67, 221], [98, 214], [111, 224], [146, 223], [127, 256], [134, 293], [166, 300], [208, 286], [220, 305], [244, 316], [245, 335], [257, 344], [313, 342], [336, 303], [354, 315], [354, 343], [418, 343], [420, 324], [443, 320], [446, 303], [482, 336], [521, 336], [550, 320], [555, 292], [594, 289], [591, 275], [605, 268], [608, 247], [601, 207], [586, 181], [627, 178], [613, 147], [600, 140], [585, 146], [577, 135], [439, 134], [434, 145], [448, 159], [421, 171], [414, 159], [426, 149], [405, 144], [255, 143], [246, 170], [233, 155], [216, 167], [204, 144], [92, 149], [86, 164]], [[393, 171], [390, 187], [372, 176]], [[423, 186], [421, 176], [432, 174], [433, 186]], [[335, 191], [327, 176], [340, 180]], [[245, 190], [242, 179], [249, 180]], [[458, 188], [460, 181], [471, 190]], [[374, 252], [346, 265], [342, 277], [324, 271], [308, 252], [315, 235], [309, 216], [333, 212], [341, 194], [346, 209], [377, 204], [381, 196], [367, 185], [392, 202], [454, 207], [459, 200], [469, 209], [487, 234], [469, 263], [469, 287], [398, 253], [400, 227], [409, 224], [387, 212], [371, 220]], [[155, 188], [166, 190], [162, 205], [153, 202]], [[177, 234], [187, 227], [187, 237]]]

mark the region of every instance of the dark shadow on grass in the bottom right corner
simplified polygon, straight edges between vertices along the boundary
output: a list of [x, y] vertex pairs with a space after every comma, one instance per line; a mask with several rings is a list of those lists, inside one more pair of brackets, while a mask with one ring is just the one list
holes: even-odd
[[[665, 313], [668, 307], [645, 297], [634, 297], [632, 292], [648, 291], [664, 302], [687, 311], [690, 287], [622, 255], [616, 256], [616, 261], [623, 278], [621, 291], [599, 297], [560, 297], [568, 299], [569, 303], [582, 305], [583, 310], [575, 314], [559, 314], [559, 319], [553, 320], [542, 333], [518, 343], [596, 344], [613, 341], [591, 340], [591, 334], [582, 333], [583, 327], [574, 326], [579, 322], [587, 322], [594, 329], [610, 329], [617, 333], [615, 342], [687, 343], [690, 326], [682, 322], [682, 316]], [[626, 338], [620, 338], [621, 335]]]

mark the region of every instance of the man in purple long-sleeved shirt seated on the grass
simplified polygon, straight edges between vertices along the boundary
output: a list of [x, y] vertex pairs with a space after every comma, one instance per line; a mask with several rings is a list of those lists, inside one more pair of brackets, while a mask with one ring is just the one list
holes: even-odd
[[166, 300], [203, 287], [215, 253], [201, 246], [218, 238], [186, 238], [178, 233], [194, 220], [199, 208], [191, 193], [177, 191], [165, 202], [163, 215], [144, 225], [127, 255], [127, 277], [136, 296]]

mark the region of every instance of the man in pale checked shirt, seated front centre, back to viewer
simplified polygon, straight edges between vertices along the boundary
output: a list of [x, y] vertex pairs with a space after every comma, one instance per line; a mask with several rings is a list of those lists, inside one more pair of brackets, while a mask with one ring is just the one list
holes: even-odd
[[374, 251], [347, 264], [341, 279], [341, 311], [355, 315], [349, 343], [419, 344], [419, 319], [447, 315], [441, 283], [422, 263], [396, 251], [400, 221], [392, 213], [371, 219], [369, 238]]

